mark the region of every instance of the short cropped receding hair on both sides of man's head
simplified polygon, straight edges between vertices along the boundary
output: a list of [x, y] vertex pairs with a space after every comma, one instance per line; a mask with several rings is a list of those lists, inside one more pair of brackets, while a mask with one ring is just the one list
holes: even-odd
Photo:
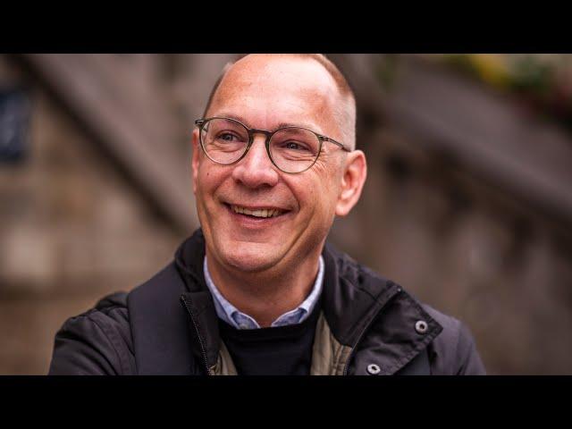
[[[339, 95], [341, 97], [341, 101], [348, 105], [349, 110], [353, 111], [353, 120], [350, 126], [355, 128], [355, 111], [356, 111], [356, 97], [354, 96], [354, 91], [349, 85], [348, 80], [340, 71], [340, 69], [332, 63], [330, 59], [328, 59], [324, 54], [281, 54], [281, 55], [291, 55], [293, 57], [298, 57], [301, 59], [306, 60], [314, 60], [316, 63], [322, 65], [325, 71], [332, 77], [332, 80], [335, 83], [335, 87], [338, 89]], [[213, 104], [214, 96], [216, 95], [216, 91], [220, 87], [224, 77], [231, 70], [231, 67], [238, 63], [241, 59], [245, 58], [248, 55], [240, 55], [236, 60], [226, 63], [223, 67], [223, 71], [221, 72], [218, 79], [214, 82], [213, 89], [208, 96], [208, 100], [206, 102], [206, 107], [203, 112], [203, 117], [206, 117], [208, 110], [210, 109], [211, 105]], [[350, 115], [352, 115], [350, 113]], [[355, 130], [352, 130], [353, 135], [355, 136]], [[349, 146], [351, 148], [355, 147], [355, 137], [351, 139], [349, 142]]]

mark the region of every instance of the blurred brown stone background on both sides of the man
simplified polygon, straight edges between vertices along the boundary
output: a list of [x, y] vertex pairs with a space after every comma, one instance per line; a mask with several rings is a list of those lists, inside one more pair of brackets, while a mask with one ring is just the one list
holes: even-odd
[[[236, 55], [0, 55], [0, 374], [198, 226], [190, 134]], [[572, 374], [572, 57], [331, 55], [369, 175], [330, 240], [465, 322], [490, 374]]]

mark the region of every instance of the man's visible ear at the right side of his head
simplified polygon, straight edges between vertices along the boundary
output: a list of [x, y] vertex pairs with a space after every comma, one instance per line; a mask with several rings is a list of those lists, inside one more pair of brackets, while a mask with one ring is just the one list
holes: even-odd
[[367, 177], [366, 154], [361, 150], [349, 152], [341, 178], [336, 214], [345, 216], [357, 204]]

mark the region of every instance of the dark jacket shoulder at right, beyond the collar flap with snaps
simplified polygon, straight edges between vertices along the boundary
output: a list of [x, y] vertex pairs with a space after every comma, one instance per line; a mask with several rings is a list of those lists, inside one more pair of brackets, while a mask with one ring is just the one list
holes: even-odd
[[476, 350], [475, 339], [467, 325], [426, 304], [421, 304], [421, 306], [443, 328], [428, 349], [432, 374], [486, 374], [483, 361]]

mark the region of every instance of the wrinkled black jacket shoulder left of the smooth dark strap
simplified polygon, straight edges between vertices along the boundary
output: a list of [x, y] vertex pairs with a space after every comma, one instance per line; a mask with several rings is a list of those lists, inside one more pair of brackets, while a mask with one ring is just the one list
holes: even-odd
[[127, 293], [100, 299], [55, 334], [50, 375], [134, 374]]

